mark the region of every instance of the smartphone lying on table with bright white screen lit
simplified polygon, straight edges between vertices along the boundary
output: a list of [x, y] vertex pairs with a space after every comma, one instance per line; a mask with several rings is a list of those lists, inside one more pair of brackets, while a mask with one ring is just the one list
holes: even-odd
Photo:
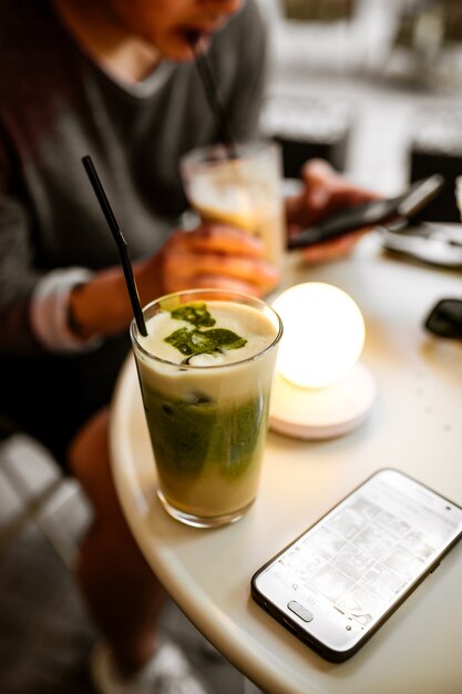
[[462, 534], [462, 509], [374, 473], [251, 579], [256, 602], [332, 662], [353, 655]]

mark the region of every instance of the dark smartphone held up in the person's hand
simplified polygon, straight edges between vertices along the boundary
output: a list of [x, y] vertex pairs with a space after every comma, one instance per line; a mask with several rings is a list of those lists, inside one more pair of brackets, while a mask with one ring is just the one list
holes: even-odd
[[396, 218], [411, 218], [442, 190], [444, 178], [434, 174], [418, 181], [397, 197], [373, 200], [337, 212], [288, 239], [289, 251], [337, 238], [355, 229], [384, 224]]

